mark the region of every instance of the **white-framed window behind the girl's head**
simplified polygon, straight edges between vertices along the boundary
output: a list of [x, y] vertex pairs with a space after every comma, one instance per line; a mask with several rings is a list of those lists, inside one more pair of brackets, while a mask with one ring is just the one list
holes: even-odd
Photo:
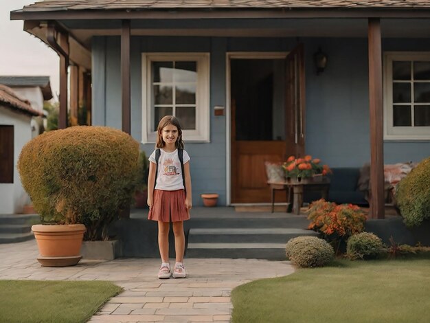
[[142, 142], [155, 142], [164, 115], [179, 118], [183, 138], [208, 142], [209, 54], [142, 54]]

